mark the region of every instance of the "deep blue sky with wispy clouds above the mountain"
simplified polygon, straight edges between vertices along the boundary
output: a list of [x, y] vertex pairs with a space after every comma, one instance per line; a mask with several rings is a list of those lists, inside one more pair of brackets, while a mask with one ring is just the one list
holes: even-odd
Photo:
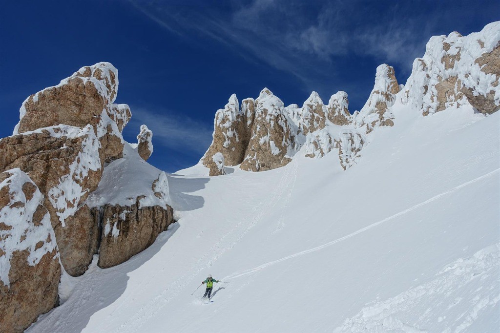
[[193, 165], [211, 142], [227, 98], [264, 87], [299, 105], [345, 90], [361, 108], [375, 68], [404, 83], [431, 35], [468, 34], [500, 19], [489, 1], [3, 1], [0, 4], [0, 136], [12, 133], [24, 98], [83, 65], [118, 68], [116, 102], [153, 130], [149, 161]]

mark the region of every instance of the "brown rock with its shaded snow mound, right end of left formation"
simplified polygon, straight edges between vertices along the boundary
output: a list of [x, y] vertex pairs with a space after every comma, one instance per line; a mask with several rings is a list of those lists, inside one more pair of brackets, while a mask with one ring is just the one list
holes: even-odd
[[105, 168], [85, 204], [101, 225], [99, 267], [128, 260], [147, 248], [173, 222], [168, 176], [125, 143], [123, 157]]

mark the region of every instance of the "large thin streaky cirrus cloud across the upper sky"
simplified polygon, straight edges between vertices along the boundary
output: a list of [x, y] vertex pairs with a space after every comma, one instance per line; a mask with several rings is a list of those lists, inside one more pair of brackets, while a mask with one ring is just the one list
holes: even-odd
[[[316, 3], [316, 2], [315, 2]], [[380, 62], [411, 69], [413, 59], [423, 54], [426, 39], [415, 34], [418, 20], [377, 15], [354, 24], [346, 16], [363, 16], [369, 10], [359, 1], [311, 5], [303, 1], [253, 0], [229, 10], [204, 6], [166, 6], [159, 2], [132, 2], [147, 17], [183, 37], [189, 32], [205, 34], [225, 44], [247, 60], [251, 57], [292, 73], [307, 86], [315, 80], [331, 80], [336, 56], [370, 55]], [[401, 26], [400, 21], [405, 24]], [[380, 24], [383, 21], [383, 24]], [[243, 52], [241, 50], [244, 50]], [[251, 55], [251, 57], [249, 57]], [[305, 61], [304, 61], [305, 60]]]

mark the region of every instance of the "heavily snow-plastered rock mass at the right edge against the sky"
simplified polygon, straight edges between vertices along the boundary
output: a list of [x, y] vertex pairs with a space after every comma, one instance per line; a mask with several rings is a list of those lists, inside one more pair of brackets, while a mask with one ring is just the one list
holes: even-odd
[[499, 22], [462, 36], [433, 36], [415, 59], [401, 101], [424, 115], [470, 103], [489, 114], [500, 109]]

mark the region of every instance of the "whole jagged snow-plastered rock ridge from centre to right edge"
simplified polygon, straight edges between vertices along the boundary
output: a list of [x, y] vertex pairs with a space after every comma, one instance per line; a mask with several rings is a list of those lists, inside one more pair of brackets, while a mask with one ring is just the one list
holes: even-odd
[[345, 91], [331, 95], [327, 105], [313, 91], [301, 107], [283, 107], [266, 88], [257, 99], [244, 99], [241, 107], [232, 95], [215, 115], [213, 142], [201, 161], [209, 175], [220, 175], [212, 160], [217, 152], [227, 165], [262, 171], [285, 165], [298, 152], [320, 158], [338, 149], [346, 169], [365, 146], [365, 135], [394, 125], [396, 101], [423, 115], [469, 103], [482, 113], [495, 112], [500, 108], [498, 30], [500, 22], [493, 22], [465, 37], [457, 32], [431, 37], [405, 85], [398, 84], [393, 67], [379, 65], [366, 103], [352, 115]]

